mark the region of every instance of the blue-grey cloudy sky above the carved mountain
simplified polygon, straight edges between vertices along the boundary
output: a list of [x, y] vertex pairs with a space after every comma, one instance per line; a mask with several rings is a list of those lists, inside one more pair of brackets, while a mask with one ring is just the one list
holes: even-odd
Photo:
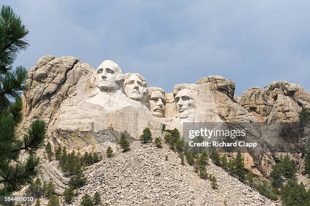
[[310, 1], [2, 0], [20, 15], [30, 47], [15, 65], [74, 56], [117, 62], [148, 86], [221, 75], [241, 95], [285, 80], [310, 91]]

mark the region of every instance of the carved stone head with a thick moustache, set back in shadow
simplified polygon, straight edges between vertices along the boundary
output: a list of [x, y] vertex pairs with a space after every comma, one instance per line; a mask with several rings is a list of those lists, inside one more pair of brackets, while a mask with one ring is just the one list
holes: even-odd
[[149, 87], [150, 111], [155, 117], [165, 117], [166, 98], [165, 91], [159, 87]]

